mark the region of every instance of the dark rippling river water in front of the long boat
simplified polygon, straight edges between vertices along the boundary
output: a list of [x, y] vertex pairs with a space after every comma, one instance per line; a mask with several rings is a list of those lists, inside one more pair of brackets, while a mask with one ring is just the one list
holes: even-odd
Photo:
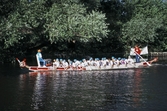
[[1, 65], [0, 111], [167, 111], [167, 64], [38, 73]]

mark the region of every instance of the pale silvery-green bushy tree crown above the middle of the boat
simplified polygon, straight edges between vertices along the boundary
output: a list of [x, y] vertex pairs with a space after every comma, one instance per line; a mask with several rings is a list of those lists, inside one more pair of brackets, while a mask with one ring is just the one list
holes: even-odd
[[72, 2], [53, 4], [46, 18], [45, 28], [51, 42], [100, 41], [109, 32], [104, 14], [97, 11], [87, 14], [84, 5]]

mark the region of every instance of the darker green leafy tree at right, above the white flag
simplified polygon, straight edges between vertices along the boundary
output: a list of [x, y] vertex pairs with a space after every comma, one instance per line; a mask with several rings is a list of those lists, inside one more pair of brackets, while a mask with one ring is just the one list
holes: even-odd
[[135, 44], [153, 44], [158, 39], [157, 30], [163, 27], [164, 3], [159, 0], [142, 0], [131, 4], [134, 6], [132, 18], [122, 27], [121, 40], [125, 49]]

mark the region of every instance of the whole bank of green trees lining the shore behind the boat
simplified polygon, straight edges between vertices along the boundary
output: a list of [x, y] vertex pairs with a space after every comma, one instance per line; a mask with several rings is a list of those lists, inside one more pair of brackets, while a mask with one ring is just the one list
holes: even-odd
[[166, 51], [166, 18], [165, 0], [3, 0], [0, 59], [38, 48], [124, 53], [139, 44]]

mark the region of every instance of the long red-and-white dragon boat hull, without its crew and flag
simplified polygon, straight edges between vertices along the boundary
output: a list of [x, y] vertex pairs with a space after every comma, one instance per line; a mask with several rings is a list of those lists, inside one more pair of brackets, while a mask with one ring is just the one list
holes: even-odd
[[55, 66], [54, 63], [48, 63], [46, 66], [28, 66], [26, 65], [26, 60], [20, 61], [18, 58], [16, 60], [19, 62], [19, 66], [22, 69], [28, 69], [29, 71], [100, 71], [100, 70], [119, 70], [119, 69], [132, 69], [132, 68], [141, 68], [141, 67], [150, 67], [153, 62], [156, 62], [158, 58], [154, 58], [151, 61], [143, 61], [140, 63], [126, 63], [126, 64], [113, 64], [113, 65], [101, 65], [97, 66], [96, 64], [91, 65], [87, 64], [86, 66]]

